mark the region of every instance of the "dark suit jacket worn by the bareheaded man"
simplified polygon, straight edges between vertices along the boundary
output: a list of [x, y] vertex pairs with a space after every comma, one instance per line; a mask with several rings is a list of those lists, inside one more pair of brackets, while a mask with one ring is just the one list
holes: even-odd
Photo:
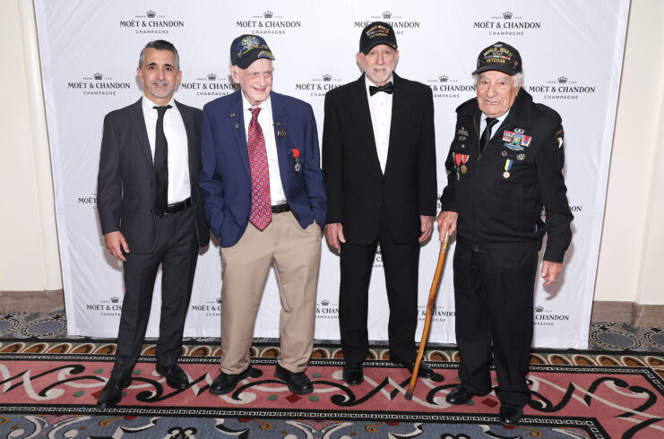
[[[189, 151], [189, 183], [200, 246], [210, 241], [205, 222], [203, 196], [198, 186], [201, 172], [201, 122], [203, 112], [177, 101], [185, 123]], [[104, 118], [104, 133], [99, 156], [97, 209], [101, 232], [120, 230], [129, 250], [147, 254], [154, 250], [157, 229], [154, 213], [154, 164], [141, 99], [111, 111]]]

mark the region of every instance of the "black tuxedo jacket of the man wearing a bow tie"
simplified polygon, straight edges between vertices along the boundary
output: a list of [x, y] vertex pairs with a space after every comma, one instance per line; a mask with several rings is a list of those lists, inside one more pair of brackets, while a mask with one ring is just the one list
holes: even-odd
[[346, 239], [356, 244], [375, 241], [383, 206], [397, 243], [419, 236], [420, 215], [435, 215], [433, 93], [426, 85], [396, 73], [393, 82], [384, 174], [375, 148], [364, 74], [325, 96], [326, 223], [341, 222]]

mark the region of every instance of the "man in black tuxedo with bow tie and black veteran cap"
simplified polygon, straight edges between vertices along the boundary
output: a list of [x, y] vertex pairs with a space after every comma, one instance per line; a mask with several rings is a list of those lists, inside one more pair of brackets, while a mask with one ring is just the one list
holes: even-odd
[[[364, 379], [368, 287], [379, 243], [390, 305], [390, 358], [412, 372], [419, 246], [431, 236], [436, 204], [431, 89], [393, 72], [399, 50], [387, 23], [362, 30], [356, 60], [364, 73], [327, 93], [323, 125], [325, 236], [340, 250], [343, 378], [351, 385]], [[419, 374], [434, 372], [422, 364]]]

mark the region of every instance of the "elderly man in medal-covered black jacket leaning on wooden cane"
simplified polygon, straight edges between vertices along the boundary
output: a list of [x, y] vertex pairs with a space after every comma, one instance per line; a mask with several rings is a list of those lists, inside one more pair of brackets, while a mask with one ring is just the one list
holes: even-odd
[[444, 231], [458, 230], [454, 300], [461, 385], [446, 400], [464, 404], [491, 391], [493, 350], [500, 421], [513, 425], [530, 400], [525, 378], [542, 238], [546, 233], [545, 287], [562, 271], [572, 239], [561, 172], [563, 127], [556, 111], [533, 103], [522, 89], [521, 56], [514, 47], [487, 47], [472, 74], [478, 97], [456, 109], [437, 218], [441, 239]]

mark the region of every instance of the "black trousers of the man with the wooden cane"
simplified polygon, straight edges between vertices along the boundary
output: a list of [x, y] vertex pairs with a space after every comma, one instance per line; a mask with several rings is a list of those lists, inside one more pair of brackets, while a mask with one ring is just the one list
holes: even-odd
[[491, 392], [493, 351], [501, 403], [522, 407], [532, 343], [533, 289], [538, 254], [454, 252], [456, 341], [461, 385], [476, 395]]

